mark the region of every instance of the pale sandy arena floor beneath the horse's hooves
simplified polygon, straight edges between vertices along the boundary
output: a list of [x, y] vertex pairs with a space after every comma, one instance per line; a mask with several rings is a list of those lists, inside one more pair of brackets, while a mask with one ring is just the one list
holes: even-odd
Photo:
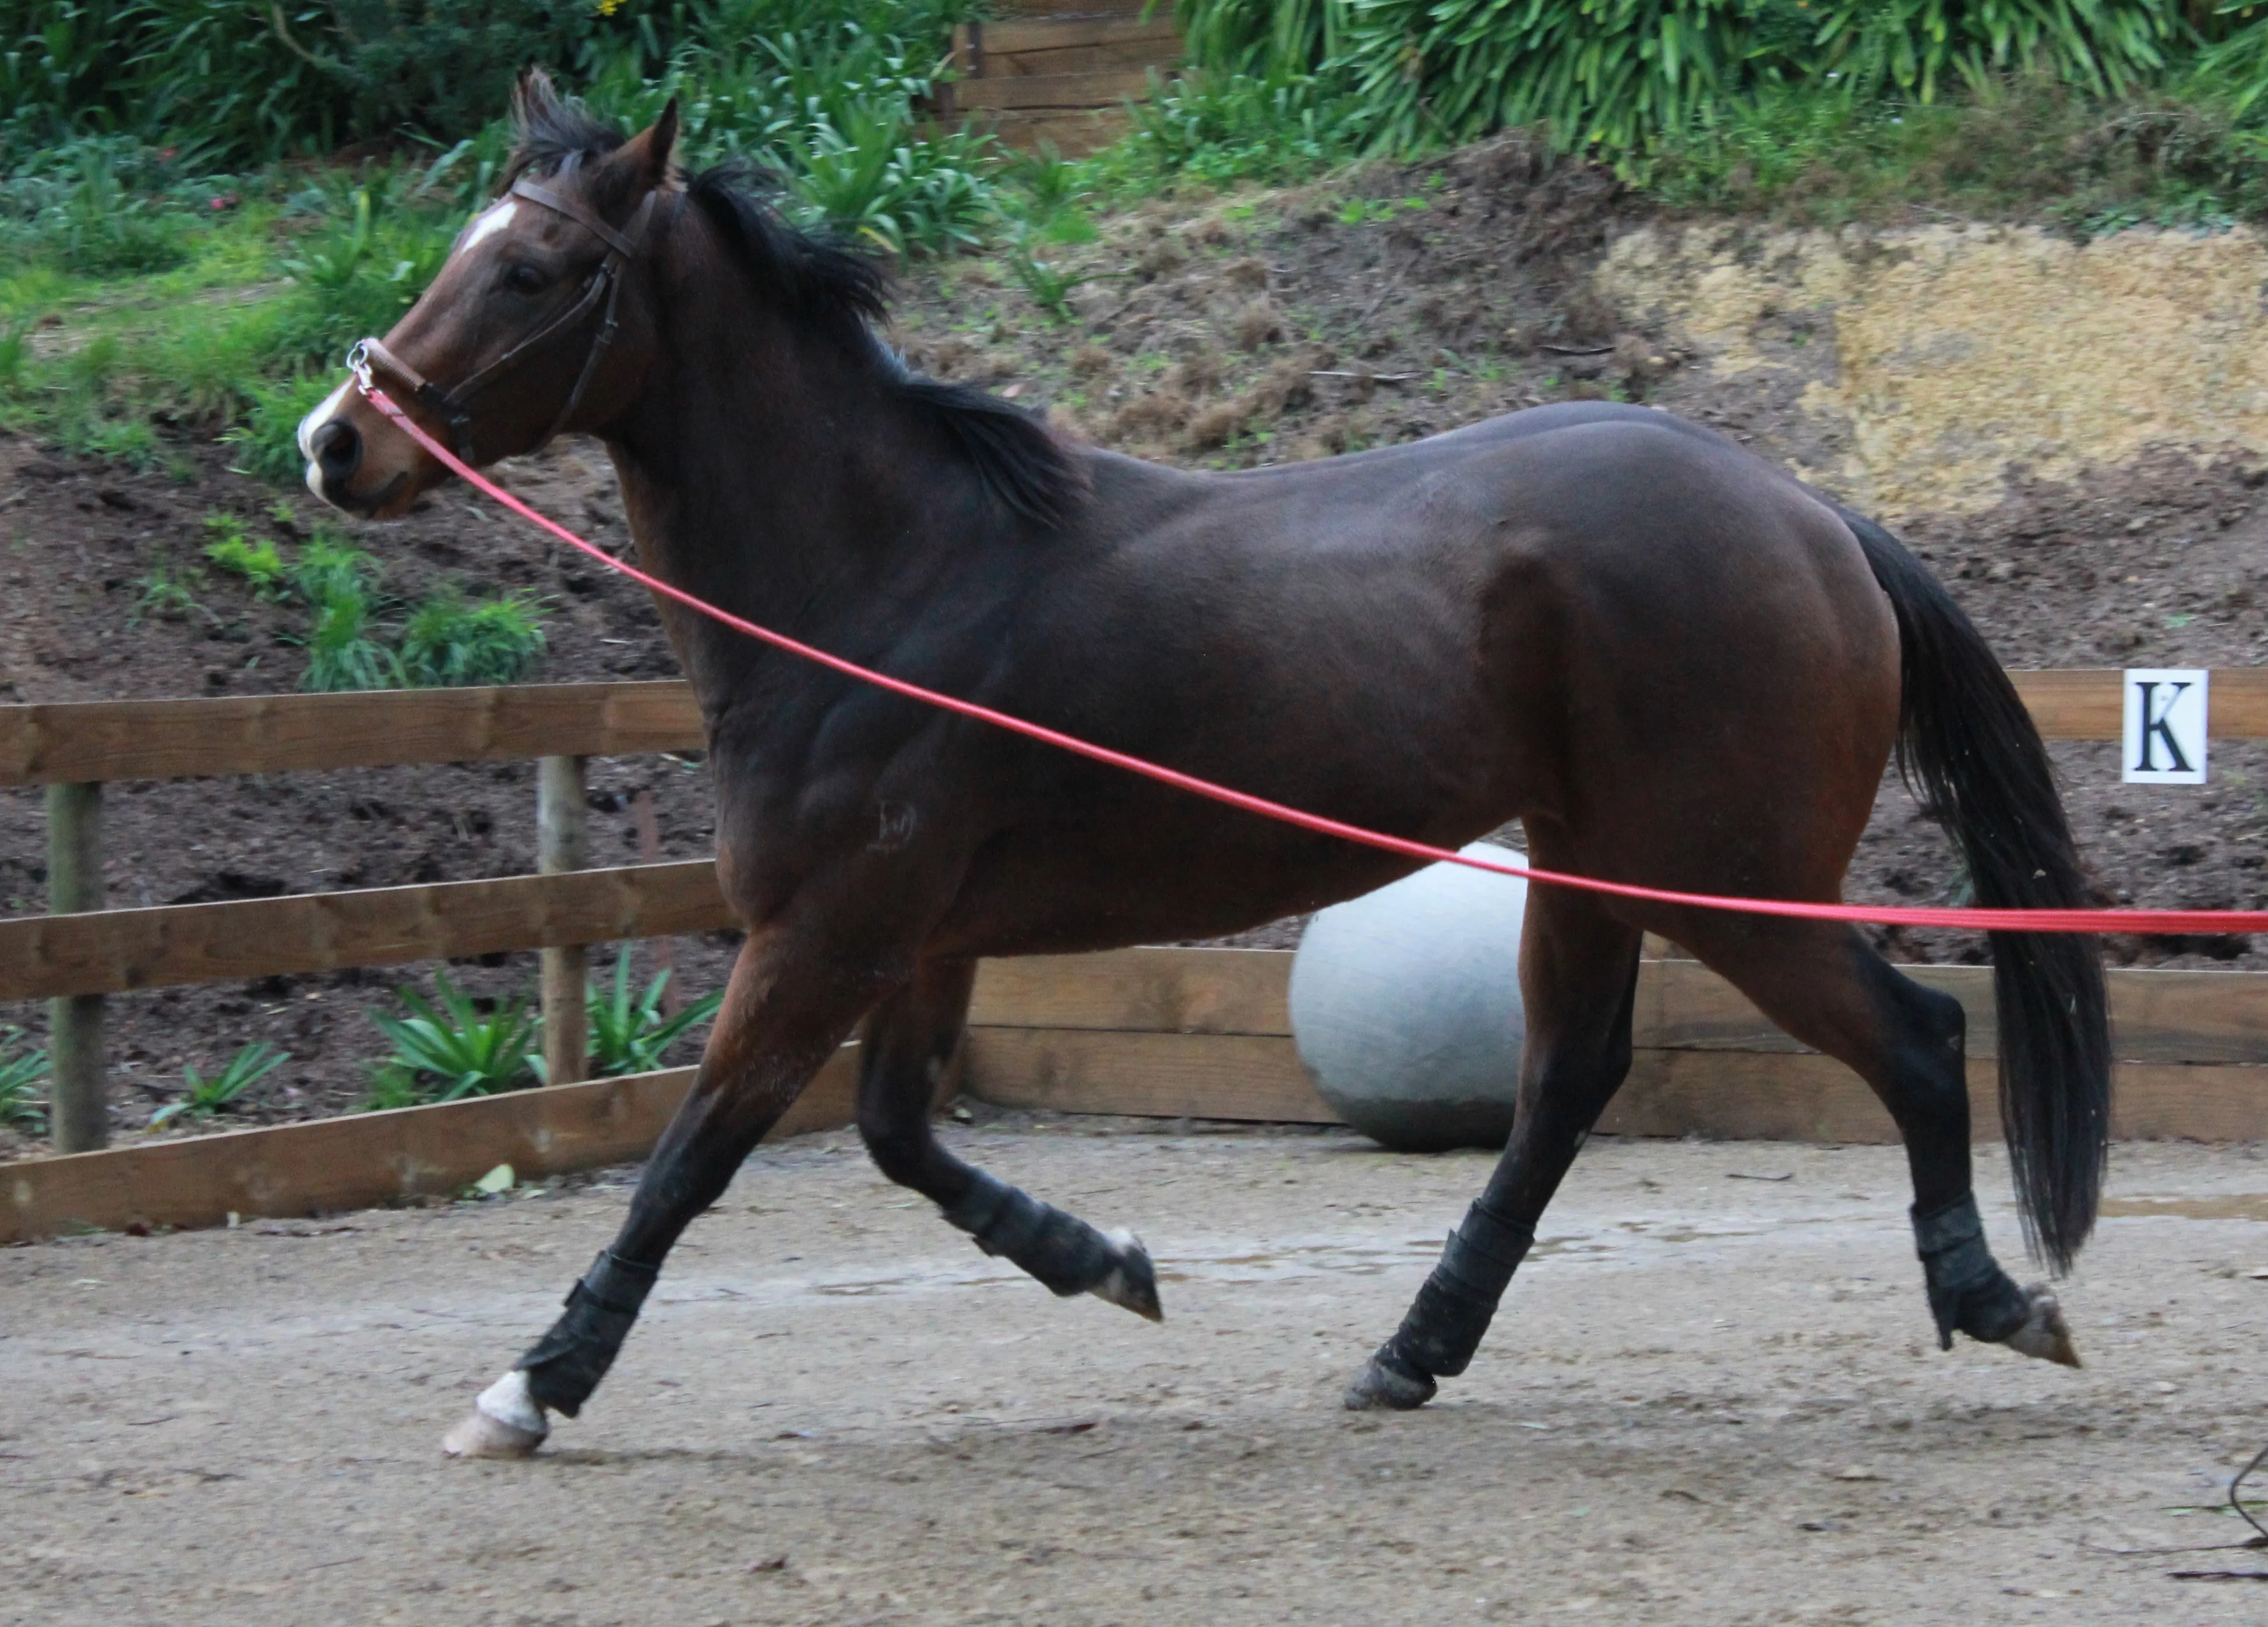
[[[2259, 1620], [2268, 1160], [2121, 1147], [2080, 1373], [1935, 1348], [1892, 1149], [1594, 1142], [1472, 1373], [1338, 1394], [1486, 1158], [948, 1128], [1139, 1228], [1163, 1326], [1052, 1301], [853, 1138], [751, 1158], [581, 1421], [440, 1432], [626, 1174], [0, 1251], [0, 1622]], [[2005, 1158], [1978, 1172], [2005, 1258]], [[2268, 1498], [2268, 1487], [2257, 1496]], [[2173, 1550], [2173, 1552], [2121, 1552]]]

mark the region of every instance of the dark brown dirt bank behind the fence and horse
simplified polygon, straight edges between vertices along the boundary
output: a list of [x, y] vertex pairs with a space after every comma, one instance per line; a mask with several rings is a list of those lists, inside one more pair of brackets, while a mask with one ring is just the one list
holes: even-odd
[[[1769, 233], [1717, 224], [1726, 265], [1765, 263]], [[1036, 306], [996, 258], [914, 267], [896, 340], [916, 365], [1014, 392], [1095, 444], [1195, 467], [1327, 455], [1540, 401], [1613, 394], [1715, 424], [1828, 485], [1864, 424], [1853, 428], [1819, 401], [1842, 401], [1839, 390], [1880, 394], [1885, 378], [1905, 376], [1901, 367], [1935, 365], [1869, 351], [1869, 369], [1844, 378], [1848, 347], [1839, 344], [1833, 301], [1805, 306], [1794, 283], [1760, 283], [1746, 304], [1735, 301], [1737, 322], [1717, 310], [1712, 324], [1656, 308], [1651, 286], [1617, 295], [1619, 283], [1601, 279], [1599, 265], [1647, 229], [1647, 213], [1597, 172], [1554, 168], [1508, 138], [1433, 163], [1288, 193], [1159, 202], [1107, 220], [1098, 240], [1050, 252], [1066, 276], [1089, 279], [1064, 313]], [[2134, 283], [2121, 283], [2118, 297], [2134, 299]], [[1880, 417], [1894, 408], [1876, 401], [1869, 410]], [[2021, 421], [2025, 401], [1996, 410]], [[1914, 499], [1928, 489], [1928, 460], [1914, 460], [1923, 467], [1907, 469], [1901, 487], [1914, 499], [1901, 528], [2009, 666], [2268, 659], [2261, 458], [2225, 446], [2200, 465], [2198, 453], [2214, 446], [2118, 444], [2121, 458], [2098, 467], [2073, 440], [2071, 469], [2053, 480], [2007, 465], [1998, 501], [1982, 505], [1971, 446], [1944, 510]], [[288, 548], [308, 535], [318, 508], [304, 492], [279, 494], [231, 474], [227, 449], [186, 433], [170, 453], [166, 469], [132, 471], [0, 437], [0, 700], [297, 687], [297, 612], [254, 603], [204, 569], [200, 548], [206, 514], [234, 514]], [[626, 546], [612, 474], [594, 444], [508, 465], [506, 480], [601, 544]], [[386, 587], [401, 600], [447, 582], [540, 596], [551, 610], [542, 680], [674, 671], [637, 589], [463, 492], [433, 494], [397, 526], [345, 528], [388, 564]], [[141, 614], [152, 571], [191, 582], [200, 607], [175, 619]], [[2055, 757], [2107, 902], [2268, 906], [2268, 750], [2216, 746], [2214, 784], [2202, 791], [2123, 786], [2109, 746], [2059, 746]], [[596, 859], [637, 857], [637, 789], [655, 795], [665, 857], [710, 852], [703, 768], [642, 757], [592, 768]], [[107, 820], [116, 904], [513, 875], [533, 868], [533, 766], [116, 786]], [[1960, 891], [1946, 843], [1896, 780], [1885, 780], [1853, 861], [1851, 897], [1953, 902]], [[43, 902], [39, 795], [0, 791], [0, 906], [27, 913]], [[1295, 922], [1247, 936], [1279, 947], [1295, 938]], [[1905, 961], [1984, 956], [1964, 934], [1878, 940]], [[689, 993], [721, 983], [733, 943], [719, 934], [680, 945]], [[2146, 965], [2268, 968], [2268, 947], [2234, 936], [2121, 940], [2109, 954]], [[431, 970], [113, 999], [113, 1128], [132, 1133], [172, 1099], [184, 1063], [213, 1072], [247, 1040], [279, 1045], [290, 1063], [236, 1122], [349, 1108], [381, 1049], [367, 1011]], [[535, 981], [531, 954], [490, 956], [451, 974], [483, 997], [526, 993]], [[23, 1024], [36, 1042], [43, 1011], [7, 1011], [0, 1022]], [[0, 1156], [32, 1149], [0, 1128]]]

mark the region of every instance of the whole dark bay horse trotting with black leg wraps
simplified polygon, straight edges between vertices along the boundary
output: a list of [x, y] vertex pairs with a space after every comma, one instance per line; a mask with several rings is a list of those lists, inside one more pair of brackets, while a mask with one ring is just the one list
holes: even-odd
[[[642, 564], [712, 605], [1277, 802], [1438, 847], [1520, 818], [1540, 866], [1694, 893], [1837, 900], [1896, 750], [1980, 902], [2084, 902], [2039, 734], [1975, 628], [1880, 526], [1710, 431], [1565, 403], [1163, 469], [914, 376], [878, 338], [880, 267], [746, 174], [683, 174], [674, 104], [624, 138], [528, 75], [515, 120], [506, 190], [367, 363], [469, 462], [596, 435]], [[445, 478], [352, 387], [299, 444], [308, 485], [363, 517]], [[1222, 936], [1415, 868], [660, 616], [748, 936], [619, 1233], [451, 1453], [524, 1455], [581, 1412], [687, 1221], [860, 1024], [885, 1176], [1055, 1294], [1157, 1317], [1141, 1244], [934, 1140], [978, 959]], [[1538, 886], [1510, 1142], [1347, 1405], [1417, 1407], [1465, 1371], [1631, 1065], [1644, 931], [1889, 1108], [1944, 1348], [2077, 1360], [2055, 1296], [1984, 1244], [1957, 1002], [1844, 925]], [[2064, 1269], [2107, 1142], [2100, 956], [2043, 934], [1994, 952], [2021, 1210]]]

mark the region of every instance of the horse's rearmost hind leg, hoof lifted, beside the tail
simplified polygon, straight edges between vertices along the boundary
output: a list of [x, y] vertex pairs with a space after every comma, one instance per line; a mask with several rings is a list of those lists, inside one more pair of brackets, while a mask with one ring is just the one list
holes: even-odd
[[1939, 1346], [1966, 1332], [2077, 1366], [2046, 1287], [2021, 1289], [1984, 1246], [1969, 1169], [1962, 1004], [1889, 965], [1851, 927], [1712, 918], [1678, 938], [1787, 1033], [1846, 1063], [1889, 1108], [1914, 1178], [1914, 1244]]

